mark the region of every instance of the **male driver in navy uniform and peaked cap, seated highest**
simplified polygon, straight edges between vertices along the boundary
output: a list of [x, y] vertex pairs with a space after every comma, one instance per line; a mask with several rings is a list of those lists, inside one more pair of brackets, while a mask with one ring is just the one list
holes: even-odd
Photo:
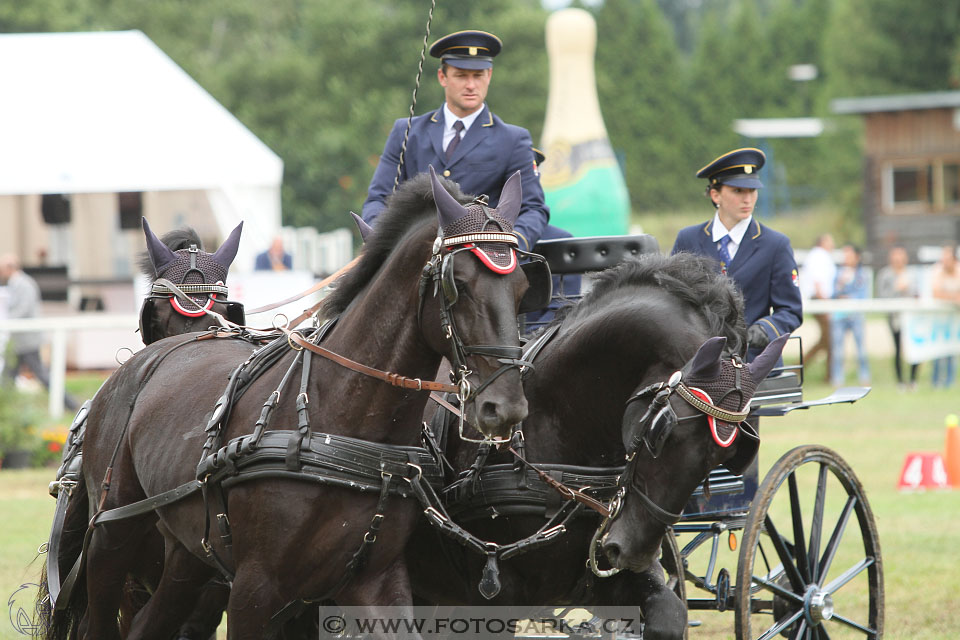
[[[441, 60], [437, 80], [445, 102], [439, 109], [413, 118], [400, 182], [433, 165], [437, 173], [457, 182], [464, 193], [487, 194], [490, 206], [496, 207], [507, 178], [519, 170], [523, 202], [513, 230], [520, 237], [520, 248], [530, 251], [541, 238], [570, 234], [556, 227], [548, 229], [550, 213], [543, 201], [530, 132], [505, 123], [484, 102], [493, 75], [493, 58], [501, 47], [500, 39], [485, 31], [458, 31], [430, 47], [430, 55]], [[394, 123], [370, 181], [363, 219], [372, 226], [387, 196], [393, 193], [406, 130], [407, 118]]]

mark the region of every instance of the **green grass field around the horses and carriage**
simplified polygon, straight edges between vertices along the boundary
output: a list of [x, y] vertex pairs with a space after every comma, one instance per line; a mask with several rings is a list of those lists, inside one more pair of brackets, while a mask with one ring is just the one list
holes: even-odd
[[[960, 634], [960, 491], [901, 493], [896, 483], [908, 451], [941, 451], [944, 418], [960, 412], [960, 394], [921, 384], [912, 393], [897, 390], [889, 362], [871, 363], [874, 388], [854, 405], [795, 411], [783, 418], [765, 418], [760, 448], [761, 478], [789, 449], [823, 444], [837, 451], [854, 469], [867, 491], [880, 532], [886, 584], [886, 637], [913, 640], [954, 639]], [[922, 371], [924, 380], [929, 370]], [[807, 371], [807, 399], [827, 395], [818, 383], [822, 365]], [[9, 620], [19, 608], [29, 610], [34, 583], [53, 513], [47, 483], [53, 469], [0, 470], [0, 595], [8, 603], [0, 621], [0, 639], [23, 637]], [[731, 554], [732, 556], [733, 554]], [[736, 557], [721, 557], [731, 572]], [[691, 593], [691, 595], [693, 595]], [[703, 624], [690, 631], [694, 639], [733, 637], [733, 613], [691, 612]]]

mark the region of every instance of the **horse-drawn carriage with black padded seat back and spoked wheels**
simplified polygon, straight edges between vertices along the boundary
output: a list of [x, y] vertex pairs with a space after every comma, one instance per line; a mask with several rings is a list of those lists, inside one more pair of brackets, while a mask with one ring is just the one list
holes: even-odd
[[[564, 278], [658, 247], [653, 237], [635, 235], [548, 240], [536, 250]], [[800, 338], [790, 343], [798, 364], [781, 365], [759, 385], [751, 418], [853, 403], [870, 391], [846, 387], [804, 400]], [[718, 566], [723, 546], [739, 551], [734, 569]], [[712, 470], [665, 536], [661, 564], [668, 586], [690, 611], [733, 610], [737, 638], [883, 635], [874, 516], [854, 471], [824, 446], [791, 449], [762, 481], [756, 461], [742, 475], [723, 466]]]

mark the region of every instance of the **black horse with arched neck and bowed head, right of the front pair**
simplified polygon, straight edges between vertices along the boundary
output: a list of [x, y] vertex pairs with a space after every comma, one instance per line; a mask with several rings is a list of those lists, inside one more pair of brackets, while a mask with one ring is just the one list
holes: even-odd
[[[515, 441], [522, 442], [519, 452], [574, 489], [589, 485], [592, 491], [586, 492], [596, 498], [614, 498], [618, 485], [638, 485], [657, 504], [678, 509], [710, 469], [724, 462], [745, 466], [756, 445], [741, 437], [719, 446], [704, 415], [681, 403], [676, 407], [679, 421], [664, 434], [659, 455], [634, 451], [636, 463], [627, 477], [622, 465], [626, 452], [636, 448], [636, 411], [642, 414], [650, 405], [645, 397], [628, 401], [638, 390], [670, 379], [695, 354], [717, 364], [715, 347], [724, 340], [709, 341], [712, 336], [723, 336], [732, 353], [744, 350], [742, 298], [712, 262], [657, 254], [600, 273], [590, 293], [545, 330], [541, 338], [549, 340], [528, 347], [539, 353], [535, 370], [524, 378], [530, 415], [523, 423], [523, 440]], [[779, 346], [771, 353], [779, 353]], [[766, 372], [758, 369], [752, 375]], [[642, 514], [632, 520], [630, 562], [623, 562], [624, 553], [617, 564], [633, 571], [600, 578], [585, 566], [595, 551], [596, 513], [566, 518], [575, 503], [564, 506], [562, 496], [513, 454], [489, 448], [478, 454], [476, 447], [452, 436], [446, 451], [458, 472], [446, 491], [449, 512], [478, 538], [502, 545], [499, 585], [485, 585], [482, 594], [477, 587], [487, 575], [489, 558], [438, 538], [422, 524], [407, 549], [418, 599], [461, 606], [588, 606], [595, 611], [604, 605], [639, 605], [645, 638], [683, 637], [686, 604], [666, 587], [656, 562], [664, 522]], [[739, 459], [731, 462], [734, 458]], [[558, 523], [561, 535], [556, 535]], [[515, 544], [519, 540], [532, 543], [531, 550], [514, 555], [521, 551]]]

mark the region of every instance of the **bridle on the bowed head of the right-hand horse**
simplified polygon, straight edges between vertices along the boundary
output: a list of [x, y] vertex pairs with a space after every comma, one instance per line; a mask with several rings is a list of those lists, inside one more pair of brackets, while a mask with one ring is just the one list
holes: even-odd
[[[737, 371], [735, 390], [740, 390], [741, 377], [739, 374], [743, 369], [743, 363], [737, 356], [734, 356], [732, 360], [733, 366]], [[674, 394], [696, 409], [697, 413], [678, 418], [671, 404], [671, 398]], [[639, 453], [641, 447], [646, 447], [650, 455], [656, 459], [663, 452], [667, 438], [677, 423], [684, 420], [696, 420], [703, 415], [712, 417], [715, 420], [720, 420], [721, 422], [736, 425], [738, 435], [750, 438], [751, 440], [760, 440], [760, 436], [756, 430], [746, 421], [750, 415], [749, 403], [747, 403], [746, 408], [742, 411], [729, 411], [718, 407], [709, 400], [709, 397], [692, 391], [690, 387], [684, 384], [682, 371], [675, 371], [666, 382], [656, 382], [644, 387], [628, 398], [626, 405], [629, 406], [632, 402], [649, 398], [650, 396], [653, 396], [653, 400], [640, 418], [637, 433], [634, 434], [630, 441], [630, 446], [627, 448], [627, 465], [624, 467], [623, 473], [617, 478], [617, 493], [610, 502], [609, 514], [604, 518], [603, 522], [600, 523], [596, 533], [594, 533], [593, 540], [590, 542], [588, 564], [593, 573], [601, 578], [612, 576], [620, 571], [616, 568], [600, 569], [597, 565], [596, 551], [607, 527], [620, 515], [623, 502], [631, 490], [632, 493], [640, 499], [640, 504], [647, 510], [647, 513], [662, 525], [672, 527], [682, 516], [680, 513], [668, 511], [655, 503], [635, 481], [634, 476], [636, 474], [634, 472], [638, 460], [637, 453]]]

